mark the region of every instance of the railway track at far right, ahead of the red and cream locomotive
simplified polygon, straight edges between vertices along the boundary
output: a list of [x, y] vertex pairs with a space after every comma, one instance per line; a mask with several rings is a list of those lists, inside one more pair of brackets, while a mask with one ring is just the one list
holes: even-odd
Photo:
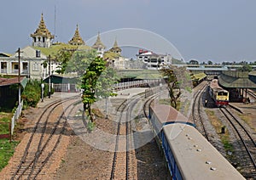
[[233, 127], [241, 141], [243, 147], [241, 149], [240, 160], [241, 166], [247, 172], [247, 177], [256, 177], [256, 143], [253, 137], [228, 108], [220, 108], [219, 110], [230, 122], [231, 127]]

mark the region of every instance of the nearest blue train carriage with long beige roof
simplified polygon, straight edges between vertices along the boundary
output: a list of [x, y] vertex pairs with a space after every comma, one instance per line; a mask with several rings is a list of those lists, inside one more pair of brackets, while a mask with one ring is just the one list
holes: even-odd
[[172, 179], [245, 179], [195, 127], [163, 127], [162, 146]]

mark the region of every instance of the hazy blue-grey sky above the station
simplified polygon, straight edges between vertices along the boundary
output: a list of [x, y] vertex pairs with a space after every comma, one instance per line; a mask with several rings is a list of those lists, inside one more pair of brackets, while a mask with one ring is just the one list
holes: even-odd
[[[111, 48], [115, 38], [124, 40], [113, 35], [112, 42], [104, 42], [103, 35], [131, 28], [145, 31], [149, 39], [154, 35], [160, 42], [170, 42], [186, 61], [256, 61], [255, 0], [5, 0], [1, 7], [0, 52], [4, 53], [31, 45], [30, 35], [44, 13], [45, 24], [58, 42], [68, 42], [78, 24], [85, 43], [91, 45], [91, 38], [101, 32], [102, 42]], [[154, 36], [145, 41], [152, 47], [159, 44]], [[161, 53], [172, 53], [166, 51]]]

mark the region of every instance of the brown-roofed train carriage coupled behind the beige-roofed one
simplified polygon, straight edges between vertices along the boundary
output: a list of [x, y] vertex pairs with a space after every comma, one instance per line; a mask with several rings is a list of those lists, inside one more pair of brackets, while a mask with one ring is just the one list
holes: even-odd
[[156, 142], [161, 147], [162, 128], [172, 123], [183, 123], [195, 126], [192, 121], [189, 121], [186, 116], [178, 112], [170, 105], [166, 104], [151, 104], [149, 107], [149, 120], [153, 127], [154, 137]]

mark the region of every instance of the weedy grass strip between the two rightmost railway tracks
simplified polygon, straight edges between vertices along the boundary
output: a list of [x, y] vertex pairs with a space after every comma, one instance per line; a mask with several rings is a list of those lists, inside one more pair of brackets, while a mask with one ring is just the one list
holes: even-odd
[[226, 155], [228, 155], [228, 158], [232, 158], [230, 152], [233, 154], [234, 149], [232, 143], [230, 143], [230, 132], [225, 128], [225, 132], [221, 133], [221, 129], [222, 127], [224, 127], [222, 122], [218, 120], [218, 118], [216, 117], [216, 115], [214, 115], [214, 112], [212, 110], [206, 110], [206, 113], [212, 123], [212, 126], [218, 133], [221, 142], [224, 144]]

